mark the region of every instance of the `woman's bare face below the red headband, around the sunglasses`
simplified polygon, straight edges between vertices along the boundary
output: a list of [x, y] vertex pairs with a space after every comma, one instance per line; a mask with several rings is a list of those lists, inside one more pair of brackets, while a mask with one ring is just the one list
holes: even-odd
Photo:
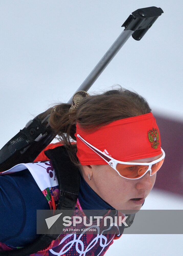
[[[158, 158], [154, 157], [137, 159], [129, 162], [149, 163]], [[142, 178], [130, 180], [121, 177], [110, 165], [82, 165], [81, 171], [85, 181], [104, 201], [117, 210], [138, 211], [152, 190], [156, 173], [150, 176], [147, 172]], [[88, 173], [91, 180], [88, 180]], [[141, 200], [133, 200], [142, 198]]]

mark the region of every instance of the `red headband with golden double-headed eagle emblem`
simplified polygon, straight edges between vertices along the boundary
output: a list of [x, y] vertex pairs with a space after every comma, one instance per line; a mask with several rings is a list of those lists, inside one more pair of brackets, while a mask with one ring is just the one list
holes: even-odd
[[107, 164], [85, 145], [77, 134], [102, 152], [123, 162], [161, 154], [159, 129], [151, 112], [113, 121], [90, 133], [83, 131], [79, 124], [76, 124], [77, 157], [80, 163]]

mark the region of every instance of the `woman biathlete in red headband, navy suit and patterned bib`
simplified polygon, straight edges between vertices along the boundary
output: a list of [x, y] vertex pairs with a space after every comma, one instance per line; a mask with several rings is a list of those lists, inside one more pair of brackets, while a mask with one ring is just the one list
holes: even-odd
[[[36, 210], [57, 209], [56, 169], [79, 170], [75, 209], [81, 217], [84, 209], [114, 210], [114, 215], [137, 212], [154, 186], [165, 153], [147, 101], [120, 87], [100, 95], [80, 91], [72, 102], [58, 104], [46, 113], [60, 142], [48, 145], [34, 163], [0, 175], [0, 251], [13, 252], [39, 238]], [[69, 180], [64, 182], [69, 184]], [[72, 182], [78, 181], [73, 177]], [[104, 255], [121, 236], [120, 231], [60, 234], [30, 255]]]

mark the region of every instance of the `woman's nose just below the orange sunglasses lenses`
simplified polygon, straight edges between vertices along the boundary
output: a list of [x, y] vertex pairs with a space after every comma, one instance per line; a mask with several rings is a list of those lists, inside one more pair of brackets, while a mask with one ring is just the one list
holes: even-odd
[[151, 190], [154, 186], [156, 175], [150, 176], [150, 172], [147, 172], [142, 178], [137, 179], [136, 188]]

